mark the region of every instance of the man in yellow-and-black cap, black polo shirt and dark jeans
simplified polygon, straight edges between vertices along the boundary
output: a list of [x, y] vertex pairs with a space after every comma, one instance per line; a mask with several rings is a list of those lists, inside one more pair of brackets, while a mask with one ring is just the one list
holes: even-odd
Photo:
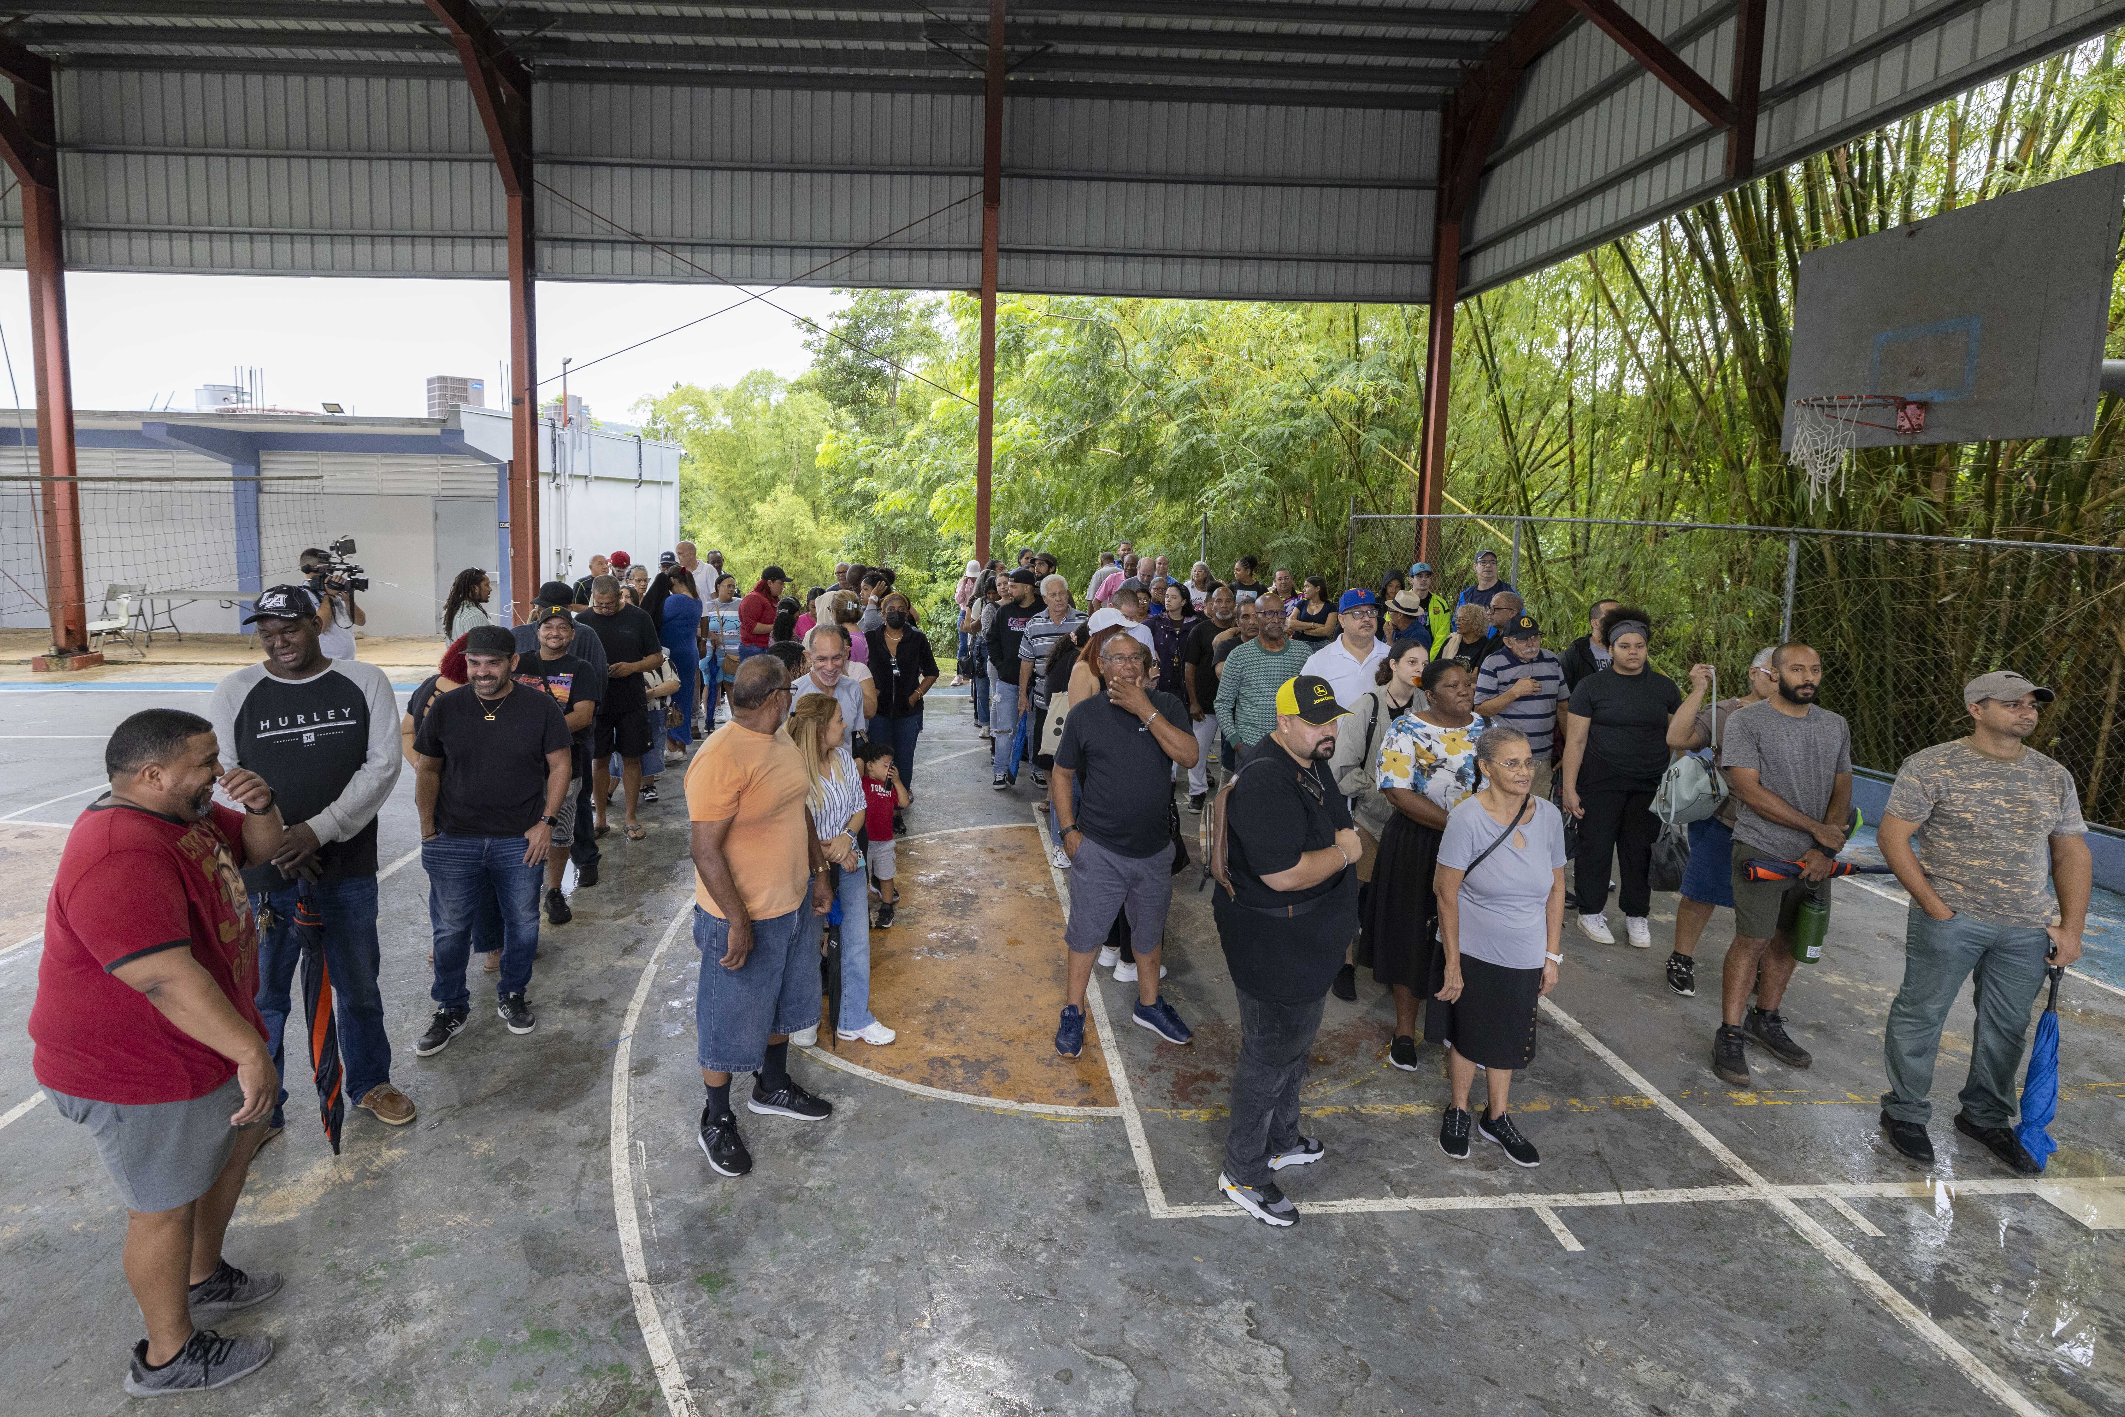
[[1286, 682], [1277, 729], [1247, 752], [1224, 799], [1226, 882], [1211, 911], [1239, 994], [1239, 1062], [1218, 1190], [1271, 1226], [1298, 1224], [1273, 1173], [1324, 1151], [1298, 1134], [1298, 1088], [1358, 931], [1358, 833], [1328, 771], [1343, 716], [1328, 680]]

